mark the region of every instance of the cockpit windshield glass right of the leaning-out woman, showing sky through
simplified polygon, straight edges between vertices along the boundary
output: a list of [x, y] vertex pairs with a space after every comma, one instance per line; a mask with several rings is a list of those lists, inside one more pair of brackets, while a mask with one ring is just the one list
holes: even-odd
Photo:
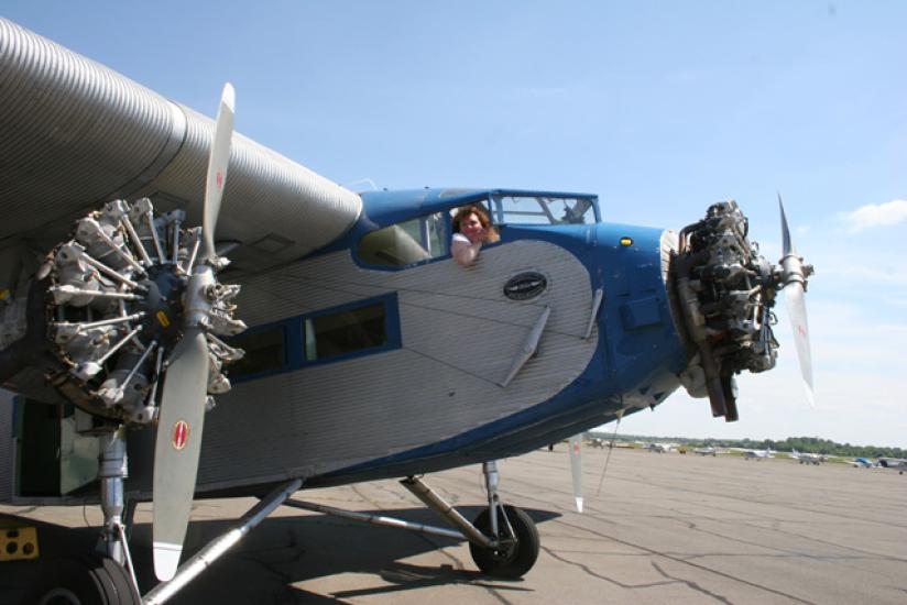
[[491, 198], [492, 220], [505, 224], [591, 224], [591, 198], [496, 195]]

